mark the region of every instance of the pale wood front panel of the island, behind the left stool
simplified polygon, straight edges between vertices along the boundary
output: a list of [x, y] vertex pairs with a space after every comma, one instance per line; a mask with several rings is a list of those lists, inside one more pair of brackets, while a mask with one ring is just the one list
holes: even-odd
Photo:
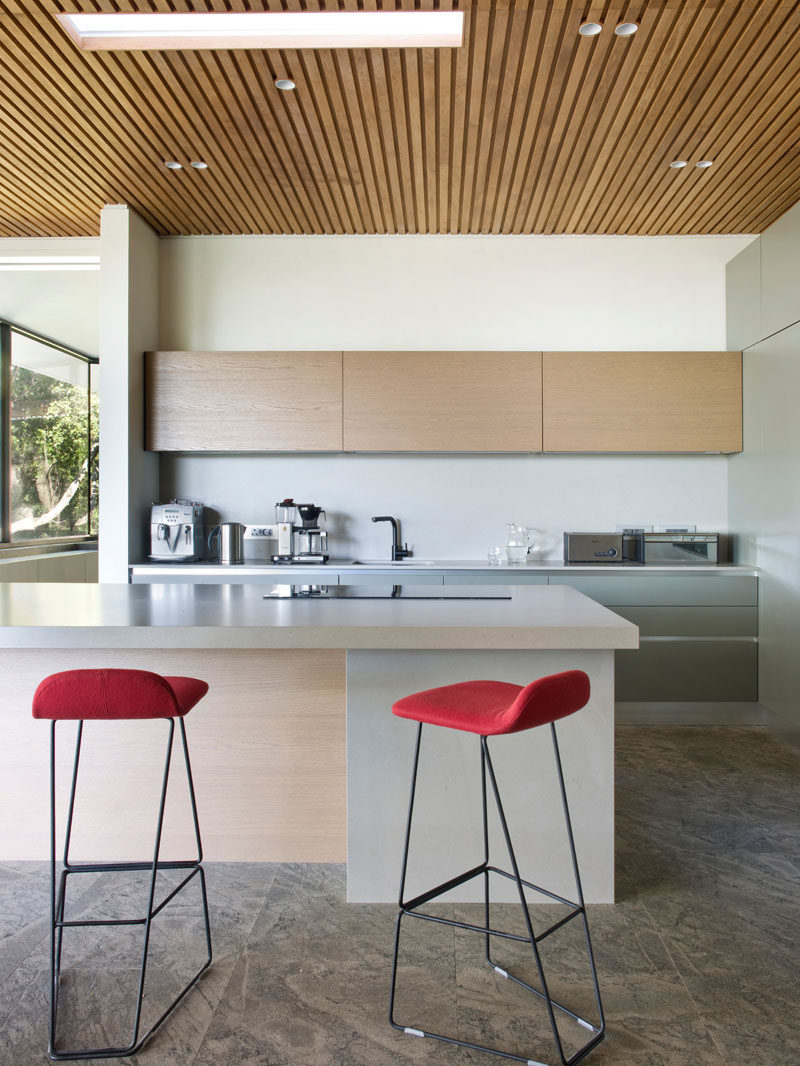
[[[48, 723], [34, 721], [38, 682], [63, 669], [121, 667], [197, 677], [208, 694], [187, 718], [206, 857], [342, 862], [347, 854], [346, 668], [337, 650], [2, 648], [7, 683], [0, 752], [4, 857], [48, 853]], [[166, 727], [90, 722], [81, 752], [75, 857], [147, 855]], [[68, 795], [75, 723], [58, 727], [59, 795]], [[176, 741], [164, 856], [190, 854], [192, 823]], [[13, 813], [12, 813], [13, 812]], [[63, 811], [59, 813], [60, 825]], [[125, 825], [124, 837], [119, 834]]]

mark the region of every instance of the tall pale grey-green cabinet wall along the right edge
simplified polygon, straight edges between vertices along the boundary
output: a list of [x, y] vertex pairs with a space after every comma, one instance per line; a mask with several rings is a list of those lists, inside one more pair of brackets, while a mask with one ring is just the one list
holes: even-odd
[[800, 207], [731, 262], [727, 306], [729, 346], [752, 339], [729, 520], [742, 559], [762, 568], [758, 699], [800, 741]]

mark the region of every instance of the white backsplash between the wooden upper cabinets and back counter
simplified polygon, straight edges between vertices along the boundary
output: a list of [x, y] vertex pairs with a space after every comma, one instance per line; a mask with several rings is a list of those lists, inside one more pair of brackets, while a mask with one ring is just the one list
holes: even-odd
[[161, 499], [195, 499], [222, 521], [274, 521], [276, 500], [325, 507], [331, 554], [388, 559], [394, 515], [417, 559], [485, 560], [506, 522], [560, 560], [564, 530], [693, 522], [726, 531], [723, 455], [162, 455]]

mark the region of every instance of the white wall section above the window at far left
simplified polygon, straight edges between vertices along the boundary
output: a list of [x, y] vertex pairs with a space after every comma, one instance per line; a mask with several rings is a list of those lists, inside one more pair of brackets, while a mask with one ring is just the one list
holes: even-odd
[[[0, 257], [99, 255], [95, 237], [0, 238]], [[99, 271], [0, 271], [0, 318], [97, 355]]]

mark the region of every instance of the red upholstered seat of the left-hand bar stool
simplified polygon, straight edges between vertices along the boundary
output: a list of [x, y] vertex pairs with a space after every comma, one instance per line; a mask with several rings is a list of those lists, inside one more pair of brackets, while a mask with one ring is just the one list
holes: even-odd
[[182, 717], [208, 692], [193, 677], [145, 669], [67, 669], [51, 674], [33, 696], [34, 718]]

